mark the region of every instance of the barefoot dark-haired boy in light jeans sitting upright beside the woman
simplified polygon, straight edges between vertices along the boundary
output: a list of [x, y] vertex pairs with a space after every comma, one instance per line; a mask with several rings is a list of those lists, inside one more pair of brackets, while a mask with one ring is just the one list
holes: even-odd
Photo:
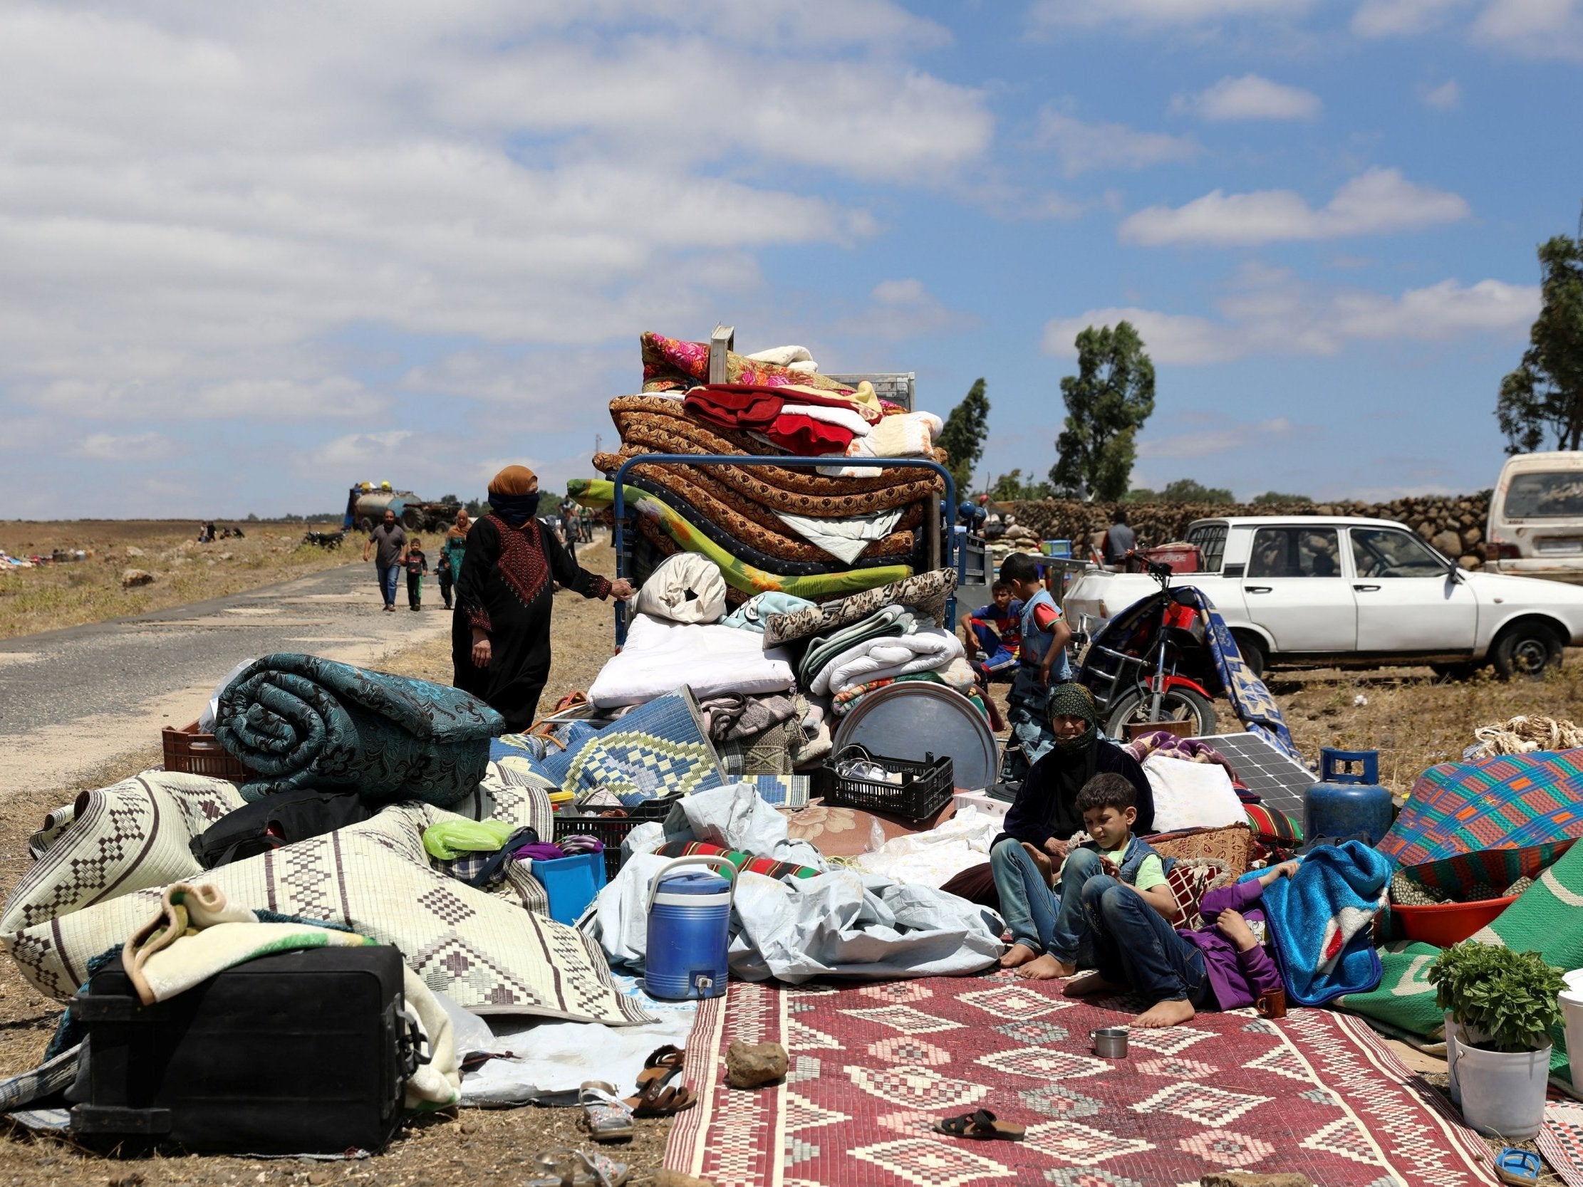
[[1050, 858], [1035, 845], [1002, 840], [989, 851], [1000, 912], [1013, 942], [1000, 958], [1002, 967], [1015, 967], [1018, 977], [1035, 981], [1072, 977], [1089, 939], [1086, 904], [1111, 886], [1157, 913], [1170, 931], [1165, 920], [1175, 918], [1176, 899], [1165, 885], [1160, 855], [1132, 836], [1137, 804], [1138, 793], [1126, 776], [1097, 774], [1083, 785], [1076, 809], [1091, 840], [1067, 853], [1059, 897], [1051, 891]]

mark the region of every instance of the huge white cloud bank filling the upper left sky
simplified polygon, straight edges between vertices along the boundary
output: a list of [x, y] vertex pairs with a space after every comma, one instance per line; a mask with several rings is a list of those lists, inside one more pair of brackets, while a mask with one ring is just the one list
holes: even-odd
[[386, 16], [0, 9], [0, 416], [269, 421], [307, 456], [310, 423], [393, 408], [347, 342], [415, 336], [451, 356], [402, 389], [592, 426], [616, 391], [546, 350], [619, 336], [630, 389], [636, 332], [741, 304], [761, 250], [879, 231], [831, 179], [945, 190], [993, 138], [893, 0]]

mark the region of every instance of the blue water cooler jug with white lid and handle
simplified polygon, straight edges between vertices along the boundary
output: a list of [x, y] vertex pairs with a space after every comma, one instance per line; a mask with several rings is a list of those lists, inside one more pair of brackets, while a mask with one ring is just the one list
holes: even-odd
[[[723, 867], [727, 877], [676, 870], [689, 864]], [[735, 894], [736, 869], [725, 858], [676, 858], [655, 875], [643, 972], [643, 988], [651, 997], [682, 1002], [725, 992]]]

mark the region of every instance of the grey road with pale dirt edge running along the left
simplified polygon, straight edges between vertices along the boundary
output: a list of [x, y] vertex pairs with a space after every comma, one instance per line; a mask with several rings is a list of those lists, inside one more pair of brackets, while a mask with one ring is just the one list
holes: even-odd
[[187, 725], [242, 660], [299, 650], [364, 666], [450, 633], [438, 589], [424, 609], [380, 609], [372, 565], [0, 643], [5, 788], [62, 787]]

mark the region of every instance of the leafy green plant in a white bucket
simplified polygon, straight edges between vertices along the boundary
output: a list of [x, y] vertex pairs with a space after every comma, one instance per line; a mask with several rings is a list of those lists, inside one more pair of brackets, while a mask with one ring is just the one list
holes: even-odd
[[1526, 1140], [1545, 1119], [1550, 1029], [1561, 1022], [1561, 970], [1539, 953], [1466, 940], [1429, 965], [1447, 1016], [1452, 1094], [1480, 1133]]

